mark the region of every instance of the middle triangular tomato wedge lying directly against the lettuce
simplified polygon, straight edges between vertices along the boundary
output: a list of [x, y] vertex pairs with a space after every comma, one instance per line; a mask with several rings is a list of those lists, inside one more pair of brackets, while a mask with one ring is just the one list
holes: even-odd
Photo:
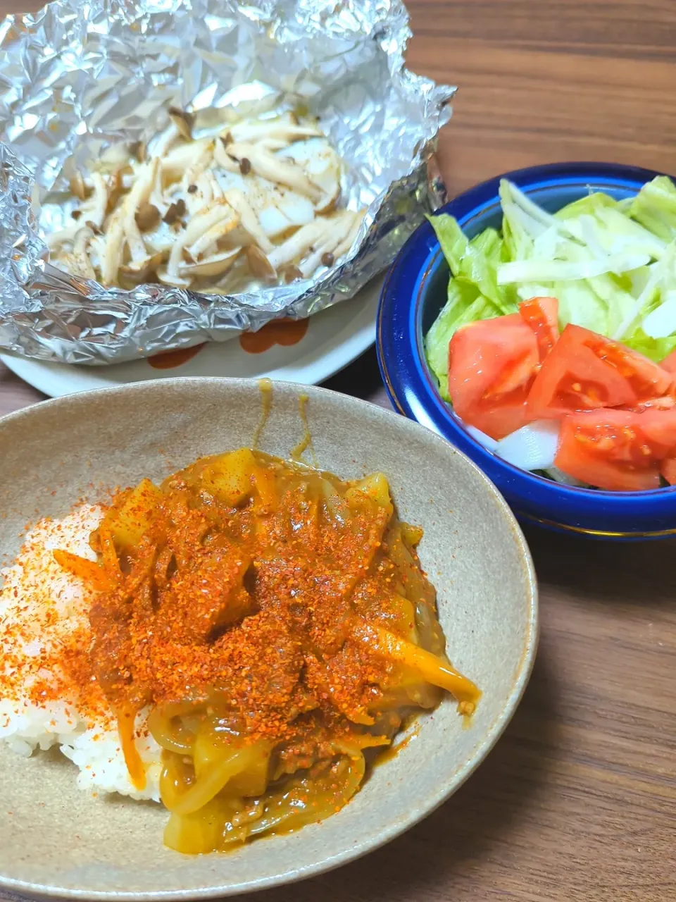
[[673, 376], [619, 342], [581, 326], [563, 329], [533, 383], [528, 418], [558, 418], [575, 410], [632, 408], [671, 391]]

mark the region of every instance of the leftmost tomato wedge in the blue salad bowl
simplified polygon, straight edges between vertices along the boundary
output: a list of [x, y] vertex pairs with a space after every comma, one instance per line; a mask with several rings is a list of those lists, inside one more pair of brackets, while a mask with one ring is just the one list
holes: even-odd
[[491, 438], [525, 424], [525, 399], [540, 357], [534, 331], [518, 313], [458, 329], [448, 353], [448, 390], [464, 422]]

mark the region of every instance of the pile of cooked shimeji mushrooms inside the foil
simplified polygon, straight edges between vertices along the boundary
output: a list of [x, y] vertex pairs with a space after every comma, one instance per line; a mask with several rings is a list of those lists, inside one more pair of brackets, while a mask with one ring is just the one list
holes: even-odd
[[73, 272], [91, 277], [98, 269], [111, 285], [157, 273], [189, 288], [224, 277], [237, 262], [228, 284], [241, 281], [246, 290], [247, 272], [263, 281], [308, 277], [349, 250], [362, 214], [334, 212], [343, 161], [314, 120], [292, 113], [238, 120], [233, 110], [227, 132], [194, 140], [192, 115], [170, 108], [169, 119], [143, 152], [118, 148], [88, 183], [73, 176], [82, 202], [74, 219], [82, 222], [48, 239], [64, 245]]

